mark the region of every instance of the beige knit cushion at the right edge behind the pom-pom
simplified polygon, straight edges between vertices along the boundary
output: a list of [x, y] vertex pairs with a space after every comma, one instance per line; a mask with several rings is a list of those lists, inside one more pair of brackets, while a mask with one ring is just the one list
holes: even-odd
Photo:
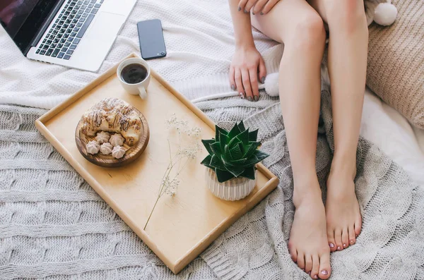
[[394, 0], [395, 23], [370, 25], [367, 85], [424, 129], [424, 0]]

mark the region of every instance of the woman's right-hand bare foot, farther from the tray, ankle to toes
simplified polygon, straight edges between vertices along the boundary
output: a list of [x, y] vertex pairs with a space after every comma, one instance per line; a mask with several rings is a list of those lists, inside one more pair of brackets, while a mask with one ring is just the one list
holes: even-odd
[[355, 194], [356, 171], [346, 172], [331, 166], [327, 180], [326, 224], [331, 252], [343, 250], [356, 242], [362, 217]]

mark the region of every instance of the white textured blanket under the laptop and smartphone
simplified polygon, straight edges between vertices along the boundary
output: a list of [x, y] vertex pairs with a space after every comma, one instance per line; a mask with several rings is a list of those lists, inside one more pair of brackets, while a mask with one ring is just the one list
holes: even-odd
[[[98, 73], [30, 61], [0, 27], [0, 104], [51, 109], [131, 52], [140, 54], [136, 23], [152, 18], [162, 21], [167, 48], [165, 58], [149, 61], [155, 71], [189, 99], [230, 91], [235, 39], [228, 1], [139, 0]], [[278, 72], [281, 44], [254, 28], [252, 32], [267, 72]]]

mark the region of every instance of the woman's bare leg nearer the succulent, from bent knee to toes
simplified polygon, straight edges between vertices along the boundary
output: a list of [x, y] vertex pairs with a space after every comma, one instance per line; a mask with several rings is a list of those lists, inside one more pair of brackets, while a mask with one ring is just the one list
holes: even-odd
[[293, 261], [312, 279], [331, 273], [326, 217], [315, 169], [324, 53], [322, 18], [304, 0], [284, 0], [265, 16], [252, 16], [265, 35], [284, 42], [279, 90], [293, 169], [296, 207], [288, 244]]

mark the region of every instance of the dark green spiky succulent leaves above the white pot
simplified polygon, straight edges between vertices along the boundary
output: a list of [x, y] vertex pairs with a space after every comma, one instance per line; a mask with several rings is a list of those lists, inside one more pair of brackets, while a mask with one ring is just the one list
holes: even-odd
[[216, 126], [215, 138], [201, 140], [209, 153], [201, 164], [213, 169], [220, 183], [237, 177], [254, 180], [255, 164], [269, 157], [258, 150], [257, 136], [258, 130], [249, 132], [242, 121], [230, 131]]

